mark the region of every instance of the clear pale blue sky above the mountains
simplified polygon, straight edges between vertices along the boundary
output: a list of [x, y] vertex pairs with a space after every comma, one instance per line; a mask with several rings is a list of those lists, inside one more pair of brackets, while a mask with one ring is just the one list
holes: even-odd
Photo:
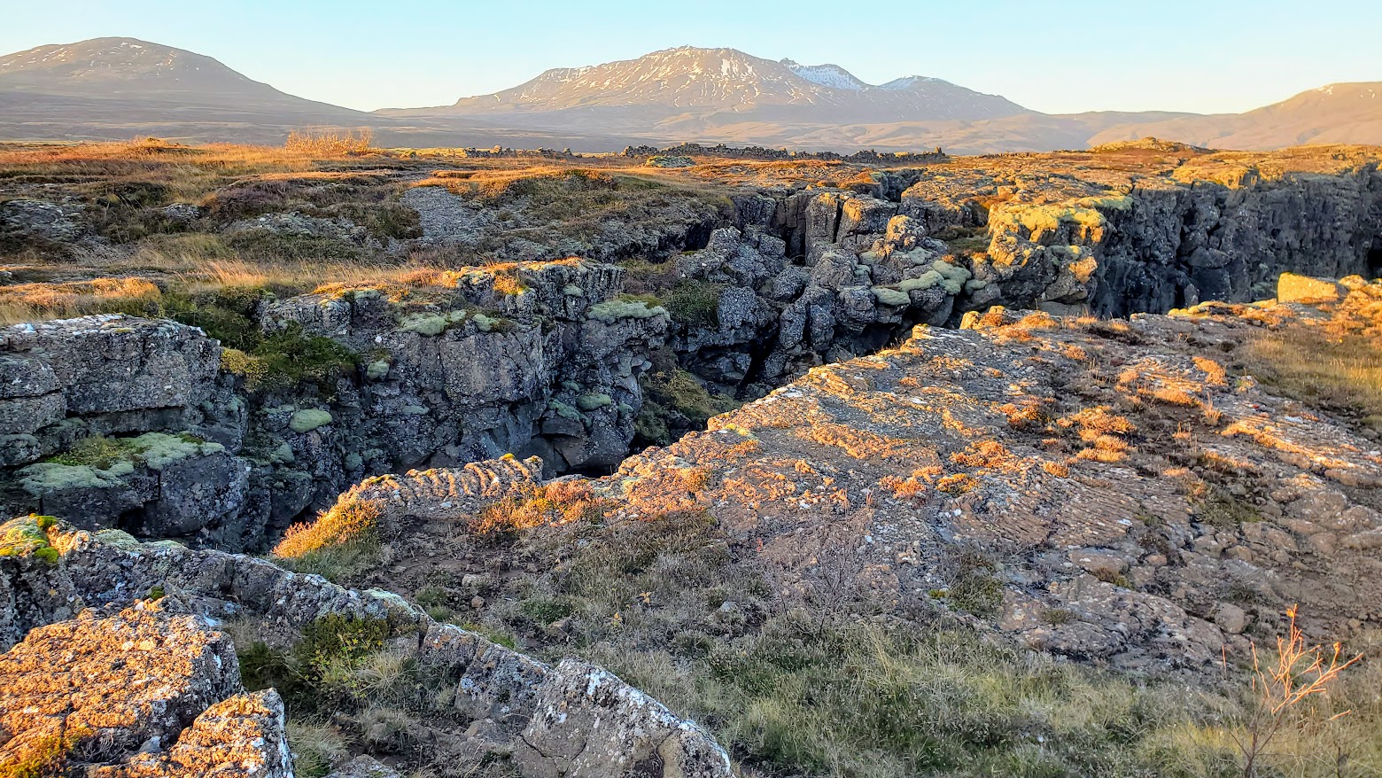
[[1045, 111], [1245, 111], [1382, 80], [1378, 0], [0, 0], [0, 53], [130, 36], [350, 108], [444, 105], [672, 46], [947, 79]]

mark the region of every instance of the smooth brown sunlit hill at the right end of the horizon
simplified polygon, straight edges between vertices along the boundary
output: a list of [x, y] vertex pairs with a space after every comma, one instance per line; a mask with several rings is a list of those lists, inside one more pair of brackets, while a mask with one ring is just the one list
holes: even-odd
[[1382, 144], [1382, 82], [1329, 84], [1247, 113], [1115, 124], [1090, 144], [1155, 135], [1211, 148]]

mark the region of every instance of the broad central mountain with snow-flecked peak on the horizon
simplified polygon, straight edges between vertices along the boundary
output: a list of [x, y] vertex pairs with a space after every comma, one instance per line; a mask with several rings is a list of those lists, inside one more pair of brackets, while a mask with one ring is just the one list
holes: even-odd
[[774, 62], [684, 46], [637, 59], [547, 70], [517, 87], [390, 116], [503, 117], [531, 127], [705, 137], [742, 123], [842, 124], [994, 119], [1030, 113], [998, 95], [909, 76], [873, 86], [837, 65]]

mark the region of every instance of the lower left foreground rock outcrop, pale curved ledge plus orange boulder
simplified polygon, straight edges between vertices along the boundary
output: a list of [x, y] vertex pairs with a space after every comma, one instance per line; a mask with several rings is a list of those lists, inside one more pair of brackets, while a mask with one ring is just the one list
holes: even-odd
[[[531, 778], [731, 775], [695, 724], [600, 667], [545, 665], [395, 594], [47, 517], [0, 525], [0, 601], [12, 619], [0, 625], [4, 644], [26, 634], [0, 655], [0, 768], [290, 775], [278, 695], [243, 692], [235, 647], [214, 627], [239, 618], [293, 633], [336, 616], [387, 625], [392, 648], [452, 690], [431, 714], [456, 732], [468, 727], [457, 764], [503, 753]], [[151, 591], [156, 604], [141, 600]]]

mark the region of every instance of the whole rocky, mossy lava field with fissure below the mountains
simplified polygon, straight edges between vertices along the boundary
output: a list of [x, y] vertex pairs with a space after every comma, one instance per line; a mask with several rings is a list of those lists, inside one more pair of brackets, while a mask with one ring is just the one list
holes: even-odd
[[102, 149], [0, 152], [4, 661], [242, 672], [158, 732], [35, 690], [14, 764], [282, 770], [276, 688], [315, 775], [727, 774], [690, 719], [749, 772], [1220, 774], [1287, 607], [1375, 643], [1376, 149]]

